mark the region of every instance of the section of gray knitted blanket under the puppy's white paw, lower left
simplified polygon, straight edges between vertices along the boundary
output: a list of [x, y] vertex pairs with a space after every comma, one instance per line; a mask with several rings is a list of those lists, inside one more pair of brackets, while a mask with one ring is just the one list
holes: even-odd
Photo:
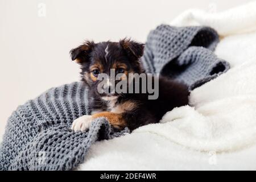
[[11, 115], [0, 148], [1, 170], [71, 170], [84, 161], [96, 140], [112, 139], [105, 118], [98, 118], [88, 132], [74, 132], [72, 122], [89, 114], [88, 89], [82, 82], [52, 88], [19, 106]]

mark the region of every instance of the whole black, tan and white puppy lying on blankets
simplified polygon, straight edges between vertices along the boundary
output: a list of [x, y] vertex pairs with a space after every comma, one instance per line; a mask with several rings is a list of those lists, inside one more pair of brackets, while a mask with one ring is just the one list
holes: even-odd
[[[144, 44], [122, 39], [119, 42], [87, 41], [71, 50], [72, 60], [81, 65], [82, 81], [89, 87], [89, 103], [92, 109], [91, 115], [84, 115], [73, 122], [73, 130], [86, 131], [94, 119], [105, 117], [115, 129], [129, 127], [132, 131], [139, 126], [158, 123], [167, 111], [188, 104], [187, 86], [161, 76], [158, 79], [155, 76], [146, 77], [146, 87], [150, 81], [152, 86], [158, 86], [157, 98], [149, 99], [152, 93], [148, 90], [140, 93], [145, 80], [134, 81], [135, 78], [130, 78], [130, 75], [144, 74], [140, 61], [143, 48]], [[120, 79], [114, 82], [110, 80], [111, 71], [114, 71], [114, 76], [121, 75]], [[98, 78], [103, 74], [105, 84], [100, 85], [102, 80]], [[139, 85], [139, 93], [110, 92], [121, 81], [127, 82], [126, 91], [131, 86]], [[99, 88], [109, 92], [99, 92]]]

